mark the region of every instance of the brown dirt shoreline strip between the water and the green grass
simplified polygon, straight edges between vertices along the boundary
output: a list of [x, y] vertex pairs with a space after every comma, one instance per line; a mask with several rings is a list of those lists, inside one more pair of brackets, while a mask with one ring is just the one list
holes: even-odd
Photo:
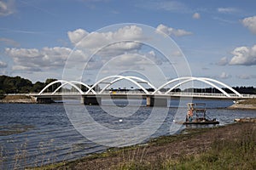
[[86, 156], [77, 161], [39, 169], [122, 169], [127, 162], [154, 166], [164, 160], [177, 160], [184, 156], [197, 156], [210, 150], [216, 141], [241, 138], [245, 128], [256, 129], [256, 123], [233, 123], [223, 127], [190, 129], [181, 134], [152, 139], [148, 144], [139, 144], [122, 149], [112, 149], [102, 154]]

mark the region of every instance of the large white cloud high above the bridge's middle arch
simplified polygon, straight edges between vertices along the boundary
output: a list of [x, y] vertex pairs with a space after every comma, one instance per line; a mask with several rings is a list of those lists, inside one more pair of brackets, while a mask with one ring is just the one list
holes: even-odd
[[138, 26], [124, 26], [117, 31], [91, 32], [90, 34], [83, 29], [78, 29], [68, 31], [67, 34], [77, 48], [83, 48], [90, 52], [99, 50], [98, 54], [105, 56], [137, 51], [142, 47], [142, 44], [137, 41], [144, 38], [143, 29]]

